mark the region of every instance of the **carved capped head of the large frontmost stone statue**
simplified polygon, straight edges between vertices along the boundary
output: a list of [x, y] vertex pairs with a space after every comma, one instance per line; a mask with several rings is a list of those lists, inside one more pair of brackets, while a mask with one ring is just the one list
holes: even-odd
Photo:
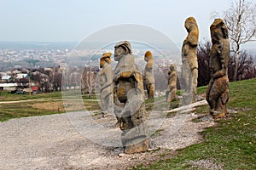
[[131, 54], [131, 43], [127, 41], [118, 42], [114, 46], [114, 60], [119, 61], [124, 55]]

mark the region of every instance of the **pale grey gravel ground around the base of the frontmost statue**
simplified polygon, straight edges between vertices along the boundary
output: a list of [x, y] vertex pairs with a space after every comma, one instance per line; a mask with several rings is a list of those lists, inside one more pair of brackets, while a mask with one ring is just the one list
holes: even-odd
[[[154, 161], [165, 149], [199, 142], [198, 132], [214, 124], [191, 122], [197, 115], [188, 111], [161, 120], [150, 139], [150, 149], [160, 150], [134, 155], [119, 147], [121, 131], [113, 116], [73, 112], [0, 122], [0, 169], [125, 169]], [[154, 112], [149, 129], [160, 119]]]

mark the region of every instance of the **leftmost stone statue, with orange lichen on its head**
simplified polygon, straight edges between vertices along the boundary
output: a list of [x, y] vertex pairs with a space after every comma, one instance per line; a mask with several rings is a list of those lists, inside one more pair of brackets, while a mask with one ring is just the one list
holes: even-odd
[[111, 53], [102, 54], [100, 60], [100, 98], [102, 116], [113, 113], [113, 71], [111, 67]]

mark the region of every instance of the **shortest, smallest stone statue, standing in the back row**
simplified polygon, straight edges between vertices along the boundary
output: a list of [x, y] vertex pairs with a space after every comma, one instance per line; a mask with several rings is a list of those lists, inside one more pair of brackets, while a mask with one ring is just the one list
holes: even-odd
[[177, 92], [177, 72], [175, 65], [170, 65], [170, 71], [168, 72], [168, 93], [167, 93], [167, 102], [172, 102], [176, 99]]

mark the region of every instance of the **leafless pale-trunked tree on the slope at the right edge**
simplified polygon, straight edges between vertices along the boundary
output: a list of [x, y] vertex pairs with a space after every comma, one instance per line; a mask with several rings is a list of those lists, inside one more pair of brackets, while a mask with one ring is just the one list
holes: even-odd
[[237, 70], [241, 44], [255, 41], [256, 5], [252, 1], [238, 0], [224, 12], [224, 21], [228, 27], [232, 51], [236, 54], [234, 81], [237, 80]]

